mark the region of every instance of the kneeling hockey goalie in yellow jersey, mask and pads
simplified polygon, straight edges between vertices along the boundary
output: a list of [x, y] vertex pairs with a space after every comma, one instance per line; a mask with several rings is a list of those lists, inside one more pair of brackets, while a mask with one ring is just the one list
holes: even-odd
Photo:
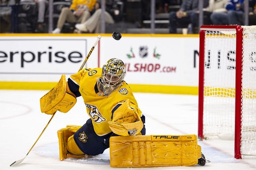
[[40, 99], [42, 113], [68, 112], [82, 96], [90, 119], [58, 131], [60, 160], [102, 154], [110, 148], [112, 167], [204, 165], [196, 135], [145, 135], [145, 116], [124, 81], [125, 65], [110, 59], [102, 68], [84, 68]]

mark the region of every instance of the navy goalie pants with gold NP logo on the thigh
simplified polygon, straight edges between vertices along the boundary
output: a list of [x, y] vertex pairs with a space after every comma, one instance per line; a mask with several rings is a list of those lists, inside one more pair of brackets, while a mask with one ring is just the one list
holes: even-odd
[[[145, 123], [145, 116], [141, 117], [142, 122]], [[146, 134], [145, 125], [140, 131], [142, 135]], [[98, 136], [93, 129], [92, 120], [88, 119], [86, 123], [74, 133], [74, 141], [79, 149], [88, 155], [102, 154], [104, 150], [109, 148], [109, 139], [112, 136], [118, 136], [114, 133], [108, 133], [104, 136]]]

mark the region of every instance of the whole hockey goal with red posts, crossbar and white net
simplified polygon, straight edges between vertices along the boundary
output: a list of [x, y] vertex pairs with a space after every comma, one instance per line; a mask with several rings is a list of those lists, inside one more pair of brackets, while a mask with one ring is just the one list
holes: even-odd
[[256, 26], [202, 25], [198, 87], [198, 137], [256, 155]]

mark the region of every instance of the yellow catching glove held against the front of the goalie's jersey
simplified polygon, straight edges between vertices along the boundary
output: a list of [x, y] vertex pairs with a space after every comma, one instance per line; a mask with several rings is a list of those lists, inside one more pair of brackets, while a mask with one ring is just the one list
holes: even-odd
[[109, 121], [108, 125], [117, 135], [137, 135], [143, 128], [143, 122], [138, 112], [131, 107], [130, 100], [124, 101], [112, 116], [112, 121]]

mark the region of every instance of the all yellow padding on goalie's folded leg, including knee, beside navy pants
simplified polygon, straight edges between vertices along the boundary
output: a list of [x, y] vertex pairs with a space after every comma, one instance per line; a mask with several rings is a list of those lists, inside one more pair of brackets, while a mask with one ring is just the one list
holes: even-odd
[[[83, 157], [83, 152], [77, 147], [73, 135], [81, 126], [67, 125], [66, 128], [58, 130], [60, 160], [68, 157]], [[69, 139], [69, 140], [68, 140]], [[69, 153], [67, 147], [71, 150]], [[77, 147], [77, 148], [76, 148]], [[79, 152], [80, 150], [80, 152]], [[79, 155], [76, 155], [79, 154]]]

